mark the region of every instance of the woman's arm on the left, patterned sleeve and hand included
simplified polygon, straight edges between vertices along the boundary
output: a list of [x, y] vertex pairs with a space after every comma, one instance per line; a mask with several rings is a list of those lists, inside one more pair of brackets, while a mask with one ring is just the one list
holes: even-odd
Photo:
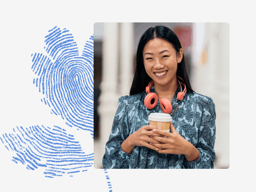
[[[130, 134], [128, 128], [128, 102], [124, 97], [119, 99], [118, 110], [114, 117], [114, 122], [110, 137], [106, 143], [106, 151], [102, 159], [104, 168], [129, 168], [130, 156], [136, 146], [146, 146], [153, 150], [158, 150], [148, 142], [158, 143], [149, 136], [160, 136], [153, 133], [152, 129], [157, 126], [142, 126], [136, 132]], [[129, 135], [130, 134], [130, 135]]]

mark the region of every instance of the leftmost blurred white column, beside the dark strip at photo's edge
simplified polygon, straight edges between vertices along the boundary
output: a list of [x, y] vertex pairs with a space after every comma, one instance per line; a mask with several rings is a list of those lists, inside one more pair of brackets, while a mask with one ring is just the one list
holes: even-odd
[[108, 141], [116, 110], [118, 108], [117, 95], [118, 76], [118, 23], [104, 23], [102, 42], [102, 82], [100, 83], [100, 98], [98, 112], [100, 115], [100, 145], [97, 149], [100, 160], [94, 160], [95, 167], [102, 166], [105, 144]]

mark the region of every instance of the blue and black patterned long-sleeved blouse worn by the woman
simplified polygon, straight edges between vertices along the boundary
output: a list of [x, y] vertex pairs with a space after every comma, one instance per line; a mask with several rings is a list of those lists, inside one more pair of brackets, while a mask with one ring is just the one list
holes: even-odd
[[[151, 92], [156, 93], [154, 86]], [[174, 98], [178, 92], [180, 87], [176, 90]], [[212, 98], [195, 92], [187, 92], [183, 100], [178, 100], [175, 104], [172, 99], [174, 106], [170, 114], [176, 131], [200, 152], [197, 160], [189, 162], [184, 155], [160, 154], [144, 146], [136, 146], [131, 154], [122, 150], [121, 144], [130, 134], [149, 124], [150, 113], [162, 113], [159, 101], [155, 108], [147, 109], [144, 105], [145, 97], [146, 91], [119, 98], [118, 110], [105, 146], [102, 160], [104, 168], [214, 168], [215, 104]], [[172, 115], [178, 104], [180, 106]]]

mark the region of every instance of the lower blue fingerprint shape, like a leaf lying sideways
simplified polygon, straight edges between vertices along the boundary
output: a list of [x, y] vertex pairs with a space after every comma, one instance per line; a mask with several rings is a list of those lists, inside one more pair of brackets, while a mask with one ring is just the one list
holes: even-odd
[[54, 178], [87, 171], [93, 164], [93, 154], [86, 155], [74, 136], [58, 126], [17, 126], [13, 131], [0, 139], [7, 150], [15, 153], [12, 161], [26, 165], [28, 170], [45, 167], [45, 177]]

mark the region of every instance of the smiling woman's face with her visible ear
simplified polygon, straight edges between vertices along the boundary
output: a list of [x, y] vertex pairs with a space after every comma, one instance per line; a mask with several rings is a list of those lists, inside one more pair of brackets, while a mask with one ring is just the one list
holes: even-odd
[[177, 55], [172, 44], [161, 38], [154, 38], [145, 45], [143, 62], [154, 84], [164, 86], [176, 80], [177, 65], [181, 62], [182, 55], [182, 49]]

